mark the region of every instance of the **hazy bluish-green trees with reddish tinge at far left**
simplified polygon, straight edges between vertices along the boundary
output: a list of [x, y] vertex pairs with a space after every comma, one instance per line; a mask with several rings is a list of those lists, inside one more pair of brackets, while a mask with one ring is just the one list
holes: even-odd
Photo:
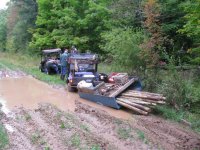
[[29, 53], [29, 30], [34, 28], [37, 15], [35, 0], [12, 0], [7, 15], [7, 51]]

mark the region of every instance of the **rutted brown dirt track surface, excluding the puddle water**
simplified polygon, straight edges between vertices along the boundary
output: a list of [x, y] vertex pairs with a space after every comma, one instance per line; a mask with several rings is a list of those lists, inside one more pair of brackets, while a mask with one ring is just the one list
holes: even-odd
[[[11, 74], [24, 76], [4, 71], [0, 79], [16, 77]], [[0, 115], [9, 134], [8, 149], [200, 149], [200, 135], [180, 124], [156, 116], [133, 115], [122, 120], [111, 116], [103, 106], [74, 101], [74, 112], [43, 103]]]

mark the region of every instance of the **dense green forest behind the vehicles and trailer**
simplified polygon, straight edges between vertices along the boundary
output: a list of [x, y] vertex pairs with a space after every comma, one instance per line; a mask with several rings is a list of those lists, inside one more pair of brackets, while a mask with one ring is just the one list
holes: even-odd
[[7, 5], [0, 10], [0, 52], [37, 56], [43, 49], [75, 45], [99, 54], [113, 71], [140, 76], [146, 90], [166, 95], [176, 111], [200, 113], [200, 0], [10, 0]]

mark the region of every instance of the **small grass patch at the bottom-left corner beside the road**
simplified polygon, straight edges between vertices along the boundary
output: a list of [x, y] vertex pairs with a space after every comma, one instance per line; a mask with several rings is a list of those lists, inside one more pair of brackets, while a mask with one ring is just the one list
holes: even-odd
[[3, 150], [9, 144], [8, 134], [2, 124], [0, 124], [0, 150]]

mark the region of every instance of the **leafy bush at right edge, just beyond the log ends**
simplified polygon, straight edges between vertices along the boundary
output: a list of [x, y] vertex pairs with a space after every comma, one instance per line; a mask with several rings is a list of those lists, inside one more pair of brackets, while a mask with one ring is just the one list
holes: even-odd
[[169, 65], [169, 70], [162, 74], [159, 93], [167, 97], [167, 102], [176, 109], [192, 110], [192, 106], [200, 103], [200, 88], [194, 86], [193, 81], [185, 80], [175, 66]]

